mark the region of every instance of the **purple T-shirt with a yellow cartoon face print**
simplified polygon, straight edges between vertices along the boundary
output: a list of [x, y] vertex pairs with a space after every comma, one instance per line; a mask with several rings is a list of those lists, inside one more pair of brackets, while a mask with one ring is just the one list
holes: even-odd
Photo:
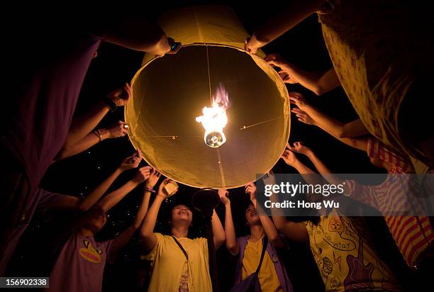
[[48, 291], [101, 291], [111, 242], [96, 242], [79, 232], [72, 235], [52, 269]]

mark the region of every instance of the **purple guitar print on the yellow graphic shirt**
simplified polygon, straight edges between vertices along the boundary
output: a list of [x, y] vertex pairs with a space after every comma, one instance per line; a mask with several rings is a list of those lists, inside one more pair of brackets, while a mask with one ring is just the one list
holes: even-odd
[[357, 257], [351, 254], [347, 256], [347, 264], [350, 269], [347, 278], [344, 280], [345, 291], [355, 291], [357, 289], [372, 289], [374, 283], [372, 282], [372, 272], [374, 265], [363, 263], [363, 237], [359, 237], [359, 250]]

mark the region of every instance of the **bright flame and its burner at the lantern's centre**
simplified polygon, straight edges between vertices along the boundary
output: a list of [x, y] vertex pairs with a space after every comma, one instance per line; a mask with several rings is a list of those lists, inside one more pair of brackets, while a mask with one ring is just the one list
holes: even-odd
[[220, 147], [226, 142], [226, 136], [223, 133], [228, 116], [226, 110], [229, 107], [229, 96], [225, 86], [220, 84], [216, 93], [213, 95], [213, 104], [211, 108], [205, 106], [202, 109], [202, 116], [196, 117], [196, 122], [202, 123], [205, 129], [204, 141], [209, 147]]

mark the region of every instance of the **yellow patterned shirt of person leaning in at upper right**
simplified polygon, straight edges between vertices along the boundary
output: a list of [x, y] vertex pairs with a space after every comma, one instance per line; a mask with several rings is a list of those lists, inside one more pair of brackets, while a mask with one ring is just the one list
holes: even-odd
[[[434, 45], [428, 37], [432, 19], [418, 17], [420, 11], [411, 8], [411, 1], [328, 2], [328, 9], [318, 11], [323, 38], [357, 115], [372, 135], [396, 152], [425, 157], [401, 137], [398, 112], [411, 84], [433, 68]], [[414, 19], [418, 21], [411, 23]], [[425, 96], [411, 98], [428, 106]]]

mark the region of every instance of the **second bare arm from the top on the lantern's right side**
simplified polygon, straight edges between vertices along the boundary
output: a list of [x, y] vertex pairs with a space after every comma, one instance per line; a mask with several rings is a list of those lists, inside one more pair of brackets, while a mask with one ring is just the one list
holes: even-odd
[[280, 68], [279, 75], [285, 83], [299, 83], [318, 96], [340, 86], [338, 75], [333, 67], [326, 71], [307, 72], [287, 62], [279, 54], [267, 55], [265, 61]]

